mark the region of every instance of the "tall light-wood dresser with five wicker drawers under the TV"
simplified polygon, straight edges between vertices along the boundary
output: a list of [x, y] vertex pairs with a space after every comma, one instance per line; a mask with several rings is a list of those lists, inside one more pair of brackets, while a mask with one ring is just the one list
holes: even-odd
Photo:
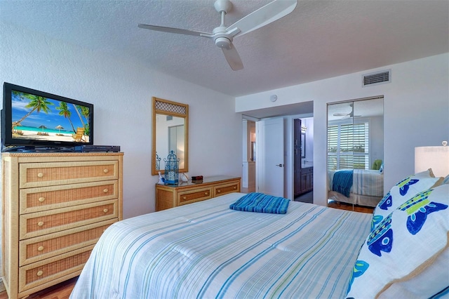
[[123, 218], [123, 153], [2, 153], [4, 284], [22, 298], [81, 273]]

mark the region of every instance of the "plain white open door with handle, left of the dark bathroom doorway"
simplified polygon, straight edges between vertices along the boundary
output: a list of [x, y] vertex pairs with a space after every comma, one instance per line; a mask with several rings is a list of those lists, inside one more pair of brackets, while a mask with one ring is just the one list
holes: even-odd
[[256, 123], [256, 190], [283, 197], [283, 118]]

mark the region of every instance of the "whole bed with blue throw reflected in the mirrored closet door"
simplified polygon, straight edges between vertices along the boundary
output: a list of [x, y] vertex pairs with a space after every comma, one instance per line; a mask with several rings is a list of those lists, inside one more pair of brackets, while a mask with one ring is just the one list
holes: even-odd
[[[335, 175], [337, 173], [337, 175]], [[345, 180], [344, 175], [348, 179]], [[376, 206], [384, 196], [384, 175], [377, 170], [329, 171], [328, 199], [358, 206]], [[352, 185], [346, 182], [352, 182]]]

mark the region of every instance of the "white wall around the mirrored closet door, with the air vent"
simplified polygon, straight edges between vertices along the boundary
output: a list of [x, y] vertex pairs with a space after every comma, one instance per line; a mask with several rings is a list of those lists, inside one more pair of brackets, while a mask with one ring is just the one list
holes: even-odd
[[[362, 74], [391, 69], [391, 83]], [[414, 172], [415, 147], [449, 140], [449, 53], [236, 98], [236, 112], [314, 101], [314, 203], [326, 205], [326, 105], [384, 95], [384, 190]]]

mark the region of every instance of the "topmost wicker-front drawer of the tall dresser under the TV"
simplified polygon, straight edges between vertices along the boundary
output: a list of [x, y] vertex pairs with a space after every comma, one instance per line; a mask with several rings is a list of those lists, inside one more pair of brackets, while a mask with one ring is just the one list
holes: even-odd
[[119, 161], [73, 161], [20, 164], [20, 188], [116, 180]]

